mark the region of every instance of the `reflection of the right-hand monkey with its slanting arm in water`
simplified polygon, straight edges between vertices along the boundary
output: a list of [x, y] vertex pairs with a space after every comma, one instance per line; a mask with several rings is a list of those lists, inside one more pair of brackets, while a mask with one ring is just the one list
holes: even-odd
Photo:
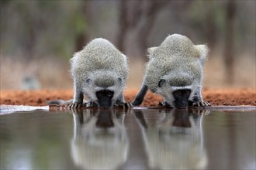
[[[206, 167], [202, 113], [192, 113], [186, 109], [161, 110], [158, 119], [155, 119], [157, 121], [152, 122], [142, 110], [133, 111], [140, 124], [151, 169]], [[209, 114], [209, 111], [205, 114]]]

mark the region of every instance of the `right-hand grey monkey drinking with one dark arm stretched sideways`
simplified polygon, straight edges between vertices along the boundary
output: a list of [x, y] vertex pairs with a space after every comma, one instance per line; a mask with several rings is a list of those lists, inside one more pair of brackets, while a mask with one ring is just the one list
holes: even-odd
[[142, 103], [148, 89], [164, 97], [164, 106], [210, 106], [202, 100], [202, 68], [208, 53], [206, 45], [194, 45], [179, 34], [168, 36], [160, 46], [148, 49], [149, 62], [133, 106]]

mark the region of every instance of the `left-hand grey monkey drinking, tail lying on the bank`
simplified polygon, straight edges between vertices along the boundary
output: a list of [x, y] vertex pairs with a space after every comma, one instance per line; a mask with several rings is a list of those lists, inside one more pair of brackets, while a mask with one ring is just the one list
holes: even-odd
[[87, 106], [112, 107], [126, 104], [123, 97], [128, 65], [126, 56], [106, 39], [93, 39], [71, 58], [74, 99], [66, 103], [54, 100], [48, 104], [68, 104], [81, 107], [84, 94]]

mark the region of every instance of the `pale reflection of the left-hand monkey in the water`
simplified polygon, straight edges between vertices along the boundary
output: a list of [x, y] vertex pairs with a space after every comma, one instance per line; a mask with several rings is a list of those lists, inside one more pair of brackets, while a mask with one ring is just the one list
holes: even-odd
[[115, 169], [126, 162], [129, 141], [119, 110], [72, 110], [71, 157], [85, 169]]

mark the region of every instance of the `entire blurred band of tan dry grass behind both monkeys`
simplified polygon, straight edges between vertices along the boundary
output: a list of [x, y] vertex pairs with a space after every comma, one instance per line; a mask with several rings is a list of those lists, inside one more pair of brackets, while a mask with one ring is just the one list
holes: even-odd
[[[130, 59], [130, 74], [126, 89], [138, 89], [144, 76], [144, 62], [141, 59]], [[205, 66], [205, 87], [252, 87], [255, 88], [255, 57], [240, 56], [234, 70], [234, 84], [225, 81], [223, 61], [218, 56], [211, 56]], [[36, 76], [42, 89], [72, 89], [72, 80], [68, 72], [69, 63], [61, 59], [37, 59], [28, 63], [2, 57], [0, 63], [0, 87], [21, 89], [22, 78]]]

